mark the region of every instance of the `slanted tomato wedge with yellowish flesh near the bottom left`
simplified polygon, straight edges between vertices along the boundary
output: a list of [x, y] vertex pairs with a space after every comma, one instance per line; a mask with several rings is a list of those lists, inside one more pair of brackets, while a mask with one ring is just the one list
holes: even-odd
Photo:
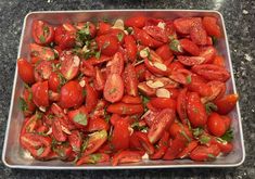
[[106, 130], [100, 130], [91, 133], [87, 140], [87, 148], [82, 151], [82, 155], [89, 155], [94, 153], [102, 146], [102, 144], [107, 140]]

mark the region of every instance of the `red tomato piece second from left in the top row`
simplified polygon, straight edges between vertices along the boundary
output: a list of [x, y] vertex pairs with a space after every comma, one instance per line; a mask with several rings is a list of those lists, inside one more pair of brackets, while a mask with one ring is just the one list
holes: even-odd
[[73, 48], [75, 46], [75, 39], [76, 28], [72, 24], [65, 23], [55, 28], [54, 42], [60, 49]]

